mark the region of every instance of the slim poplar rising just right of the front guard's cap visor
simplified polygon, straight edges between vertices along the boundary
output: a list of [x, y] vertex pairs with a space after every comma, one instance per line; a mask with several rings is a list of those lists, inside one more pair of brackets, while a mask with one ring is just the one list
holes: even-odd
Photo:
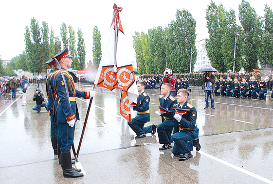
[[78, 56], [77, 56], [77, 51], [75, 49], [75, 43], [76, 43], [76, 37], [75, 37], [75, 31], [73, 30], [72, 26], [68, 26], [69, 29], [69, 51], [70, 54], [73, 56], [73, 63], [72, 63], [72, 68], [73, 70], [79, 70], [80, 69], [80, 64], [78, 61]]

